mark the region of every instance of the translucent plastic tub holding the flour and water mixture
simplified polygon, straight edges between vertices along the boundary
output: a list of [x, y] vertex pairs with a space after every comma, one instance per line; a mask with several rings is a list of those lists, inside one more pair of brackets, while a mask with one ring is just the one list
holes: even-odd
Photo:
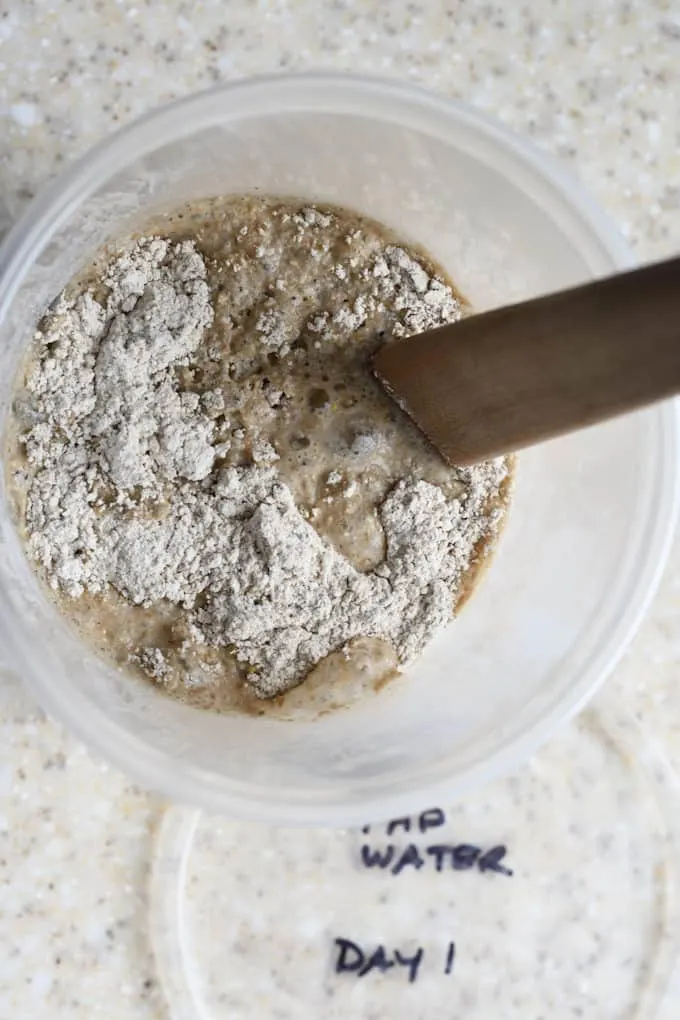
[[[40, 310], [97, 248], [173, 204], [254, 191], [383, 220], [424, 245], [477, 309], [631, 261], [573, 182], [466, 106], [336, 75], [237, 83], [108, 139], [11, 232], [3, 417]], [[102, 662], [37, 582], [3, 488], [3, 656], [95, 752], [177, 801], [318, 825], [450, 803], [532, 752], [612, 669], [667, 554], [676, 462], [670, 404], [523, 454], [500, 551], [460, 619], [404, 681], [307, 722], [201, 713]]]

